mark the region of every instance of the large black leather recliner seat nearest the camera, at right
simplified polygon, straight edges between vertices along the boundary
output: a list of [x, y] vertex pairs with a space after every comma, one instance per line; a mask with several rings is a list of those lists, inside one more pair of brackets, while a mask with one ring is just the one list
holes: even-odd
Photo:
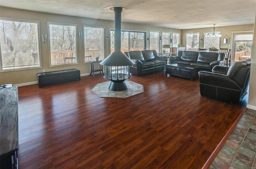
[[251, 59], [238, 61], [230, 67], [215, 66], [212, 72], [199, 71], [200, 94], [209, 98], [238, 102], [247, 94]]

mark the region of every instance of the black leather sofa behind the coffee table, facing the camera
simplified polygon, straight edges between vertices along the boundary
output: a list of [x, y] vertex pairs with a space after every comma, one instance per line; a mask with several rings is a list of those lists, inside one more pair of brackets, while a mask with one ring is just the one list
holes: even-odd
[[224, 53], [178, 51], [178, 56], [170, 57], [170, 62], [197, 66], [200, 71], [212, 71], [216, 65], [224, 66], [224, 58]]

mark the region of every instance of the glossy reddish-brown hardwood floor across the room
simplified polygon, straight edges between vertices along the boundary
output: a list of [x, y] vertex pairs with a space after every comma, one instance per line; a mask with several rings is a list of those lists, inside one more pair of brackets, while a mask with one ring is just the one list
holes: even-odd
[[246, 110], [200, 96], [199, 81], [164, 72], [129, 81], [130, 98], [99, 98], [102, 75], [18, 87], [19, 169], [200, 169]]

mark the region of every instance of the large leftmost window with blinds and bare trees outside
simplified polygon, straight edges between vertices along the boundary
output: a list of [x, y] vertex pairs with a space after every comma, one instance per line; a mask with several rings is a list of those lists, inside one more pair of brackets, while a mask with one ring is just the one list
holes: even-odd
[[2, 70], [40, 67], [38, 21], [0, 19]]

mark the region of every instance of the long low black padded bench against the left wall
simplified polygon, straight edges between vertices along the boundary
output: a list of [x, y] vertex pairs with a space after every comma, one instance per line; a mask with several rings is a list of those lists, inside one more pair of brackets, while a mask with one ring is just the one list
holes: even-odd
[[39, 87], [53, 85], [56, 83], [64, 83], [69, 81], [80, 81], [80, 70], [67, 69], [61, 71], [52, 71], [37, 73]]

